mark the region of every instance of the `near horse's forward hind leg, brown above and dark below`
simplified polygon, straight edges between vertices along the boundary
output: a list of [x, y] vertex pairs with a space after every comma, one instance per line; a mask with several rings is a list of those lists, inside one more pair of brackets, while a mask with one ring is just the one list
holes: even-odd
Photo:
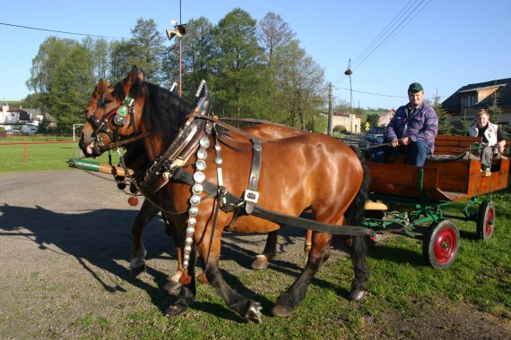
[[303, 301], [307, 285], [330, 256], [331, 241], [331, 234], [312, 233], [312, 246], [308, 253], [307, 265], [293, 285], [277, 299], [277, 304], [272, 310], [273, 316], [290, 317], [291, 311]]

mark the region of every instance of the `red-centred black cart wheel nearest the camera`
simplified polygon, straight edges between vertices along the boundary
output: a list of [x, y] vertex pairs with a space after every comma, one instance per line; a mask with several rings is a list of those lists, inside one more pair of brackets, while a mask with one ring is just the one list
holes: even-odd
[[431, 225], [422, 244], [422, 255], [435, 269], [453, 264], [460, 248], [460, 231], [453, 221], [444, 219]]

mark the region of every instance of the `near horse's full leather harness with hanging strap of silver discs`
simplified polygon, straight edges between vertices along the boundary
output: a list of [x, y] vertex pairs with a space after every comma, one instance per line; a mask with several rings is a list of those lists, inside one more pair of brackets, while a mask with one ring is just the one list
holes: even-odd
[[[161, 208], [158, 204], [153, 202], [146, 193], [154, 194], [163, 188], [171, 179], [175, 181], [186, 183], [190, 185], [192, 188], [192, 197], [190, 198], [190, 208], [188, 208], [188, 218], [187, 223], [188, 226], [186, 228], [186, 240], [185, 240], [185, 249], [184, 249], [184, 260], [183, 260], [183, 268], [186, 271], [188, 266], [189, 255], [191, 251], [191, 245], [193, 243], [193, 234], [195, 233], [195, 217], [198, 214], [197, 205], [201, 200], [206, 200], [208, 198], [216, 198], [218, 200], [218, 204], [216, 205], [216, 211], [213, 217], [212, 228], [214, 230], [216, 225], [216, 217], [218, 216], [218, 209], [229, 213], [234, 212], [233, 217], [230, 221], [230, 225], [226, 227], [226, 230], [232, 230], [233, 225], [236, 224], [238, 217], [246, 215], [253, 215], [255, 217], [260, 217], [265, 220], [272, 221], [279, 225], [295, 225], [300, 228], [310, 229], [320, 233], [327, 234], [340, 234], [340, 235], [351, 235], [351, 236], [365, 236], [372, 234], [372, 230], [363, 226], [353, 226], [353, 225], [343, 225], [339, 227], [339, 225], [328, 225], [325, 223], [317, 222], [314, 220], [309, 220], [301, 217], [291, 217], [288, 215], [283, 215], [265, 208], [261, 208], [256, 205], [259, 199], [259, 192], [257, 191], [257, 185], [259, 183], [259, 175], [261, 171], [262, 164], [262, 150], [263, 144], [261, 143], [262, 139], [255, 137], [251, 133], [244, 132], [239, 130], [238, 128], [231, 126], [228, 123], [221, 122], [217, 118], [212, 116], [211, 110], [211, 96], [205, 86], [205, 81], [201, 82], [199, 89], [197, 90], [195, 97], [198, 98], [196, 100], [195, 107], [190, 115], [187, 115], [187, 121], [185, 127], [178, 133], [178, 136], [175, 140], [172, 141], [169, 148], [165, 150], [161, 154], [160, 157], [154, 159], [152, 166], [146, 171], [146, 174], [143, 177], [141, 183], [138, 183], [134, 180], [134, 178], [130, 175], [130, 181], [133, 184], [136, 184], [139, 191], [141, 191], [146, 200], [150, 200], [153, 205], [160, 208], [161, 211], [172, 214], [163, 208]], [[127, 97], [124, 101], [124, 104], [111, 110], [101, 121], [96, 117], [95, 114], [91, 115], [90, 123], [92, 126], [96, 128], [96, 134], [100, 132], [111, 133], [106, 128], [108, 123], [108, 119], [114, 116], [114, 122], [116, 122], [116, 115], [123, 115], [124, 113], [129, 112], [132, 115], [131, 121], [133, 122], [133, 114], [134, 114], [134, 100]], [[120, 119], [118, 119], [120, 122]], [[126, 123], [126, 121], [123, 121]], [[250, 175], [247, 183], [247, 190], [244, 192], [244, 197], [241, 199], [238, 196], [227, 191], [227, 188], [223, 185], [223, 178], [221, 172], [221, 143], [230, 149], [237, 149], [238, 151], [246, 151], [247, 147], [239, 148], [237, 147], [237, 142], [242, 144], [247, 144], [247, 142], [242, 142], [240, 140], [234, 140], [230, 137], [227, 137], [226, 134], [221, 134], [216, 129], [216, 125], [220, 125], [223, 128], [239, 133], [241, 135], [246, 136], [251, 141], [251, 149], [253, 150], [252, 154], [252, 165], [250, 169]], [[122, 125], [121, 125], [122, 126]], [[118, 131], [118, 130], [117, 130]], [[109, 134], [110, 135], [110, 134]], [[214, 150], [215, 150], [215, 164], [217, 166], [217, 182], [218, 184], [213, 184], [208, 181], [205, 181], [205, 175], [202, 172], [206, 163], [204, 159], [207, 157], [207, 149], [210, 147], [210, 140], [208, 139], [208, 135], [212, 135], [214, 140]], [[141, 135], [144, 138], [147, 134]], [[140, 139], [137, 138], [137, 139]], [[133, 141], [132, 138], [129, 142]], [[273, 140], [265, 140], [272, 142]], [[118, 142], [117, 142], [118, 143]], [[118, 145], [116, 143], [108, 144]], [[107, 146], [105, 146], [106, 149]], [[195, 162], [195, 173], [192, 174], [187, 171], [184, 166], [186, 165], [187, 160], [192, 154], [196, 152], [197, 160]], [[128, 174], [126, 164], [124, 162], [124, 158], [120, 157], [121, 165], [125, 168], [126, 174]], [[200, 198], [199, 194], [202, 192], [207, 193], [204, 198]], [[185, 212], [178, 213], [179, 215]], [[212, 233], [213, 235], [213, 233]]]

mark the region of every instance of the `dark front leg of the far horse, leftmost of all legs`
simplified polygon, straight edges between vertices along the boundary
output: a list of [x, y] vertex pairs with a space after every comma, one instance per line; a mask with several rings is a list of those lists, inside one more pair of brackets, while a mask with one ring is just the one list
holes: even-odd
[[143, 246], [143, 228], [155, 217], [160, 210], [156, 208], [148, 200], [143, 201], [142, 208], [134, 218], [131, 228], [131, 276], [138, 276], [145, 270], [145, 255], [147, 251]]

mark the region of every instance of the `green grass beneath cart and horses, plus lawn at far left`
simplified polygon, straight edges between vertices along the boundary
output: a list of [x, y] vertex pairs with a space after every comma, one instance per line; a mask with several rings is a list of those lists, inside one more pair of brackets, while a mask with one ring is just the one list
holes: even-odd
[[[22, 145], [0, 144], [0, 173], [59, 170], [75, 157], [77, 145], [37, 144], [28, 146], [28, 162], [23, 159]], [[107, 163], [108, 155], [96, 161]], [[116, 159], [114, 159], [116, 161]], [[495, 234], [488, 242], [477, 240], [475, 223], [455, 220], [462, 234], [455, 263], [436, 270], [422, 261], [420, 240], [399, 237], [371, 247], [368, 283], [369, 296], [362, 302], [350, 302], [347, 293], [352, 277], [351, 261], [329, 260], [308, 287], [307, 296], [290, 319], [270, 315], [278, 295], [288, 287], [298, 272], [244, 270], [226, 281], [240, 293], [250, 295], [264, 307], [263, 324], [246, 323], [229, 310], [209, 285], [197, 286], [197, 302], [186, 314], [167, 319], [163, 313], [169, 295], [160, 292], [161, 303], [151, 310], [76, 319], [76, 332], [94, 334], [96, 338], [140, 339], [325, 339], [365, 338], [368, 319], [384, 324], [389, 311], [403, 322], [420, 316], [425, 310], [445, 308], [445, 303], [468, 302], [479, 310], [511, 321], [511, 203], [509, 189], [493, 195], [497, 211]], [[466, 202], [449, 204], [445, 213], [461, 216]], [[335, 250], [333, 250], [335, 251]], [[33, 276], [37, 276], [34, 273]], [[386, 328], [385, 328], [386, 329]], [[393, 334], [388, 329], [388, 336]], [[48, 336], [48, 335], [47, 335]], [[415, 337], [417, 334], [404, 336]], [[56, 336], [58, 337], [58, 336]]]

